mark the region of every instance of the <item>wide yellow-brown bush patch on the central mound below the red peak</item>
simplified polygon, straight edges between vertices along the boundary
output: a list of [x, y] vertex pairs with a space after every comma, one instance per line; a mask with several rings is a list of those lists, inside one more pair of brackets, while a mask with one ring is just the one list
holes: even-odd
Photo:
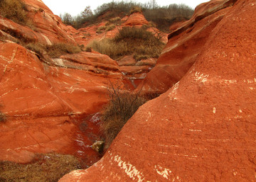
[[124, 27], [112, 39], [94, 40], [88, 45], [93, 50], [112, 59], [119, 59], [124, 55], [134, 55], [139, 57], [159, 57], [164, 48], [164, 42], [161, 42], [161, 35], [155, 36], [145, 28]]

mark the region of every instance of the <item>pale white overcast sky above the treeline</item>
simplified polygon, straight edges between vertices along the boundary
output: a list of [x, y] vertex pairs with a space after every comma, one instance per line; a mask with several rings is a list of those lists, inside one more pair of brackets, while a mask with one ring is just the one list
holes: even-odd
[[[43, 0], [44, 4], [46, 4], [46, 6], [48, 6], [55, 15], [60, 15], [60, 13], [70, 13], [72, 16], [77, 16], [85, 9], [86, 6], [91, 6], [91, 9], [94, 10], [97, 6], [111, 1], [112, 0]], [[140, 2], [144, 4], [149, 1], [150, 0], [134, 0], [133, 2]], [[209, 0], [156, 0], [156, 3], [159, 6], [166, 6], [169, 4], [186, 4], [191, 6], [191, 8], [196, 8], [198, 4], [207, 1]]]

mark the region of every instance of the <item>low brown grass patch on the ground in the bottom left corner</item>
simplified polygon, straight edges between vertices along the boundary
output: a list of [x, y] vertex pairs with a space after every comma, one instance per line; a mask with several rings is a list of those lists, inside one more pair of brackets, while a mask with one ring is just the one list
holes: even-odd
[[57, 182], [76, 169], [81, 169], [81, 164], [73, 156], [38, 154], [31, 164], [0, 161], [0, 181]]

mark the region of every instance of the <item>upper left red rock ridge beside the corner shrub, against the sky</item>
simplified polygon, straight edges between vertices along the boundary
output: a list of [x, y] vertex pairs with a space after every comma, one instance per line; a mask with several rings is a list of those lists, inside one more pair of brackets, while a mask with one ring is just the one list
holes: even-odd
[[16, 35], [26, 42], [41, 42], [48, 45], [58, 42], [75, 44], [73, 36], [67, 33], [70, 27], [64, 25], [58, 16], [53, 15], [43, 1], [26, 0], [25, 4], [33, 30], [0, 17], [0, 35]]

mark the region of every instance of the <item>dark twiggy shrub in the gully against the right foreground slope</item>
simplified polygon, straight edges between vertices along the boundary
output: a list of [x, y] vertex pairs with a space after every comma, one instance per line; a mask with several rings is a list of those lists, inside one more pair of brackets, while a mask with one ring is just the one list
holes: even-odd
[[119, 86], [114, 87], [111, 84], [110, 102], [105, 106], [101, 120], [102, 131], [105, 136], [105, 148], [110, 147], [110, 144], [122, 129], [127, 120], [134, 115], [139, 106], [146, 103], [143, 96], [139, 93], [133, 94], [121, 91]]

